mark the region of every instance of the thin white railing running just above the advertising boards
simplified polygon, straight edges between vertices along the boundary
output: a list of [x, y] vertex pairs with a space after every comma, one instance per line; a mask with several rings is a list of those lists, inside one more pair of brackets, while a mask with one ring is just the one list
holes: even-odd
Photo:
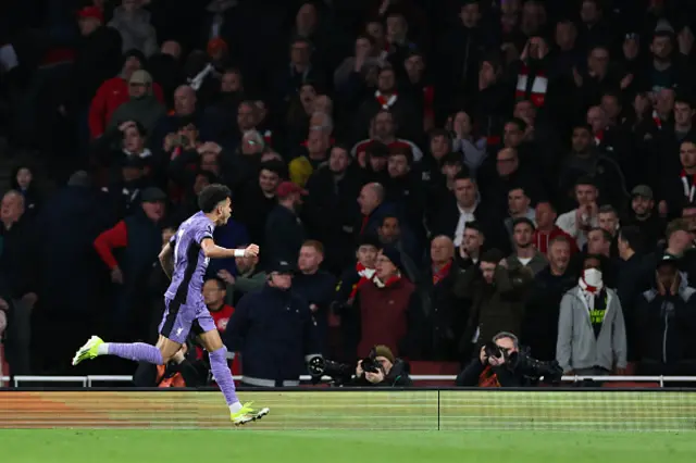
[[[243, 376], [235, 376], [236, 380], [240, 380]], [[412, 375], [411, 379], [418, 385], [419, 381], [450, 381], [453, 383], [453, 375]], [[301, 381], [311, 381], [309, 375], [300, 376]], [[330, 381], [331, 378], [324, 376], [323, 381]], [[579, 381], [611, 381], [611, 383], [657, 383], [660, 387], [664, 387], [664, 383], [696, 383], [696, 376], [563, 376], [563, 383]], [[116, 375], [89, 375], [89, 376], [0, 376], [0, 387], [13, 384], [15, 388], [21, 386], [30, 386], [32, 383], [59, 383], [66, 385], [82, 385], [89, 388], [103, 383], [130, 383], [133, 376]]]

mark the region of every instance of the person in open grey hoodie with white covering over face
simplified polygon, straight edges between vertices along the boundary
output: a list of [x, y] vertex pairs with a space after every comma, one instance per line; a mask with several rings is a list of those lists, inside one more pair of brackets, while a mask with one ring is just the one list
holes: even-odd
[[577, 286], [561, 300], [556, 360], [566, 375], [622, 375], [626, 331], [617, 293], [606, 288], [601, 260], [587, 255]]

